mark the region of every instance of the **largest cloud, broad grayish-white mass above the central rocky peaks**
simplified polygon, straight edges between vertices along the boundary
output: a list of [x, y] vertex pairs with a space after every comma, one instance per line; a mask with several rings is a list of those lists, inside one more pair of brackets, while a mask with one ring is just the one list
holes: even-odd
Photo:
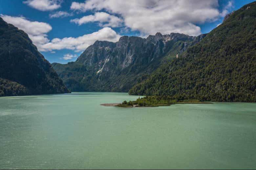
[[106, 10], [119, 14], [125, 26], [145, 35], [156, 32], [199, 35], [201, 28], [196, 24], [216, 21], [225, 13], [218, 10], [218, 0], [87, 0], [73, 2], [71, 9], [79, 12]]

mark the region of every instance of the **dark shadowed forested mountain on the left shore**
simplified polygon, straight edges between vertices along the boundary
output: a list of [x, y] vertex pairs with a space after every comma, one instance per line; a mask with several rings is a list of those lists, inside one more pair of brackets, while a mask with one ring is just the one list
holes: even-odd
[[0, 96], [68, 92], [28, 35], [0, 17]]

